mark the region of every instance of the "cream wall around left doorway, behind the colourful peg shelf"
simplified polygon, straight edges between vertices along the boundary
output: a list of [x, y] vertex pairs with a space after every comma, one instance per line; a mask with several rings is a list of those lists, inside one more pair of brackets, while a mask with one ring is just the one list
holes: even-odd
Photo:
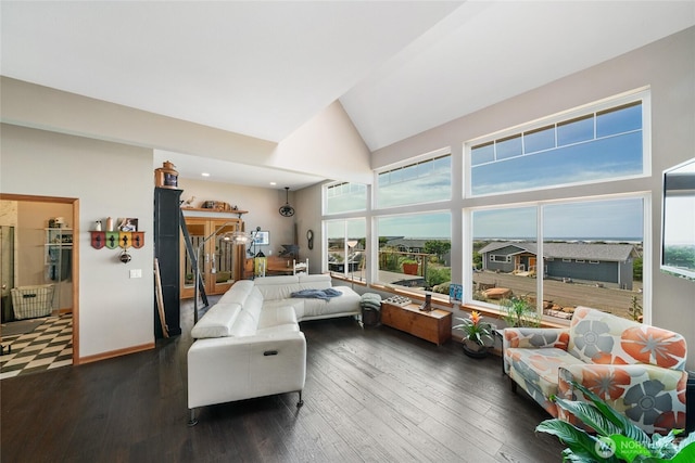
[[[152, 151], [11, 125], [0, 146], [2, 193], [79, 198], [79, 358], [153, 343]], [[108, 216], [137, 217], [146, 231], [128, 265], [90, 245], [93, 222]]]

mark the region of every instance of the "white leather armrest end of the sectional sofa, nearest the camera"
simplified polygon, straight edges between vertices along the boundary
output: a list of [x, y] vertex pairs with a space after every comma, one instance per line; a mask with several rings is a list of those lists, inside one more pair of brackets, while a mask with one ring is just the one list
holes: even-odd
[[304, 333], [199, 339], [188, 350], [188, 407], [304, 388]]

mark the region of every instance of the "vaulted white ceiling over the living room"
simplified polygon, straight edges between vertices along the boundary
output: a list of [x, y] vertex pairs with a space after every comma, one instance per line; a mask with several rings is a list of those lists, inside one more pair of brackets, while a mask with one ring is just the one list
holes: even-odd
[[[691, 0], [0, 8], [3, 76], [274, 142], [339, 101], [371, 151], [695, 24]], [[200, 155], [182, 176], [205, 169]], [[241, 182], [215, 163], [217, 181]], [[243, 183], [267, 185], [247, 164]], [[285, 173], [280, 187], [321, 178]]]

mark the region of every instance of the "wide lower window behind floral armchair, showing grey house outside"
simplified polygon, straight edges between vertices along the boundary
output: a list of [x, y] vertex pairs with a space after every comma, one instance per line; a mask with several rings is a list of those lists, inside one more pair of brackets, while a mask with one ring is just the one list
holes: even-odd
[[473, 298], [523, 298], [555, 319], [580, 305], [639, 319], [644, 217], [642, 196], [475, 210]]

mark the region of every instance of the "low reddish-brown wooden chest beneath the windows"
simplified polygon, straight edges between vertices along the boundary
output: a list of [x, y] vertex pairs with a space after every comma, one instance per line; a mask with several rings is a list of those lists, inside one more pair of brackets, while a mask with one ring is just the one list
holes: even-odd
[[426, 312], [415, 304], [401, 307], [381, 303], [381, 323], [438, 346], [452, 337], [452, 312], [441, 309]]

